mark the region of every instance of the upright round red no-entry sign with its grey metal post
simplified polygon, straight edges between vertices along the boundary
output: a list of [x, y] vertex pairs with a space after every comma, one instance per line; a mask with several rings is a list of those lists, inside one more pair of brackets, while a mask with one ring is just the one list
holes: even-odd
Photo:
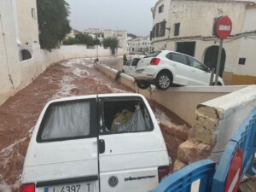
[[232, 21], [228, 16], [219, 17], [215, 23], [215, 33], [216, 36], [220, 39], [219, 47], [218, 47], [218, 60], [217, 60], [217, 67], [216, 67], [216, 75], [215, 75], [215, 82], [214, 85], [218, 85], [218, 73], [221, 61], [221, 54], [222, 54], [222, 47], [223, 47], [223, 40], [230, 36], [232, 31]]

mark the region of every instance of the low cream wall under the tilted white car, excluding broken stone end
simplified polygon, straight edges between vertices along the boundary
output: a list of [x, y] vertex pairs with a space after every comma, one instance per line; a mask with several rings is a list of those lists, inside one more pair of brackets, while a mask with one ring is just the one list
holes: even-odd
[[[107, 74], [112, 79], [115, 78], [117, 70], [96, 64], [96, 67], [103, 73]], [[149, 99], [153, 99], [155, 102], [160, 103], [172, 112], [175, 112], [179, 117], [188, 122], [190, 125], [195, 123], [195, 109], [201, 102], [207, 102], [218, 96], [224, 96], [230, 92], [240, 90], [246, 86], [195, 86], [195, 87], [171, 87], [168, 90], [157, 90], [151, 85], [151, 90], [140, 90], [137, 88], [134, 79], [125, 74], [121, 73], [119, 79], [121, 84], [125, 84], [131, 87], [138, 93], [143, 94]]]

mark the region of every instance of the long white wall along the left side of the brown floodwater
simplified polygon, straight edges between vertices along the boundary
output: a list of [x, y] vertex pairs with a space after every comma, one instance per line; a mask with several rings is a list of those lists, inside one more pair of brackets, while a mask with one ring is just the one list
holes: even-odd
[[[14, 43], [15, 39], [13, 40]], [[99, 57], [111, 56], [110, 49], [104, 49], [100, 46], [98, 46], [97, 49], [87, 49], [86, 45], [69, 45], [61, 46], [60, 49], [52, 49], [49, 52], [48, 50], [40, 49], [39, 44], [32, 44], [32, 59], [19, 61], [17, 45], [14, 47], [16, 48], [15, 51], [12, 48], [7, 49], [7, 52], [9, 53], [9, 63], [7, 62], [6, 57], [2, 58], [4, 54], [2, 55], [3, 52], [0, 49], [0, 72], [4, 72], [4, 75], [0, 77], [0, 87], [2, 88], [0, 92], [0, 105], [3, 104], [9, 96], [14, 96], [15, 92], [26, 87], [27, 84], [32, 83], [33, 79], [40, 73], [43, 73], [44, 70], [53, 63], [77, 57], [96, 58], [96, 55]], [[13, 52], [15, 52], [15, 54]], [[124, 53], [124, 49], [119, 48], [116, 55], [123, 55]], [[12, 58], [15, 58], [15, 60]], [[15, 92], [9, 81], [9, 76], [6, 74], [8, 65], [10, 74], [14, 79]]]

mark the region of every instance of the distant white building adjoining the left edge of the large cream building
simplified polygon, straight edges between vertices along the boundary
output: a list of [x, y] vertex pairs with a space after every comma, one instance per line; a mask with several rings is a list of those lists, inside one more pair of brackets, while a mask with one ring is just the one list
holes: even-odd
[[129, 52], [150, 52], [151, 51], [151, 41], [148, 36], [133, 38], [128, 40], [128, 51]]

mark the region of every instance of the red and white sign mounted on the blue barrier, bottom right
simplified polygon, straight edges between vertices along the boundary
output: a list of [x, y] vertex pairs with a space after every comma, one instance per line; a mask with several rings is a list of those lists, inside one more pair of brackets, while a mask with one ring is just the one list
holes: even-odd
[[230, 163], [230, 170], [226, 177], [224, 192], [236, 192], [239, 187], [242, 172], [242, 151], [241, 148], [236, 150]]

